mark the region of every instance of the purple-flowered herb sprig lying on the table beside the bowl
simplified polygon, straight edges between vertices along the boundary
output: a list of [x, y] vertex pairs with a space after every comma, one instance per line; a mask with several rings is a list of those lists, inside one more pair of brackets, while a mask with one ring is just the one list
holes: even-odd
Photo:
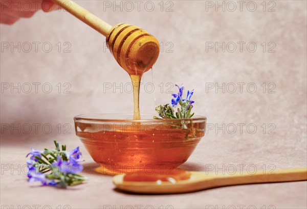
[[82, 153], [79, 147], [68, 152], [66, 145], [60, 145], [54, 141], [55, 149], [44, 149], [43, 151], [33, 149], [28, 164], [29, 182], [40, 181], [42, 185], [67, 187], [81, 184], [85, 177], [77, 174], [82, 171], [80, 165]]

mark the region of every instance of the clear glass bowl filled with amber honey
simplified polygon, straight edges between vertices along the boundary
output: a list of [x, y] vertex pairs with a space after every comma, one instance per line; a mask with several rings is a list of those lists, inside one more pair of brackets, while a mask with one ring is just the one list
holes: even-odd
[[[206, 117], [152, 119], [132, 114], [74, 117], [76, 135], [104, 174], [167, 171], [186, 162], [205, 135]], [[151, 119], [150, 119], [151, 118]]]

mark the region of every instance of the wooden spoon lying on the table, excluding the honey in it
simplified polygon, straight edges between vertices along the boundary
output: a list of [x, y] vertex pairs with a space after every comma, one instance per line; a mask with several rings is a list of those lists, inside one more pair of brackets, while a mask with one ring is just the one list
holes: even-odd
[[150, 181], [123, 181], [125, 174], [113, 177], [116, 188], [134, 193], [168, 194], [186, 193], [216, 187], [258, 184], [269, 182], [287, 182], [307, 180], [307, 168], [290, 168], [275, 170], [272, 173], [257, 171], [254, 174], [247, 172], [230, 174], [215, 174], [190, 171], [190, 178], [177, 182], [150, 182]]

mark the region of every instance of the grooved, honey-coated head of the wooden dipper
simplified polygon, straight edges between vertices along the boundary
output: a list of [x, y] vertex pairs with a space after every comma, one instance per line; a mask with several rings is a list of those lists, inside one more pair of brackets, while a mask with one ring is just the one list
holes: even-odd
[[130, 75], [142, 75], [156, 63], [158, 40], [130, 24], [116, 24], [106, 36], [106, 44], [118, 64]]

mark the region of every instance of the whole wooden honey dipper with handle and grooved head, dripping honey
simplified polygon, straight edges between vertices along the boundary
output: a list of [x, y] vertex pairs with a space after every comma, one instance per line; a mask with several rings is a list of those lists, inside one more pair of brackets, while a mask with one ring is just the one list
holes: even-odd
[[118, 64], [129, 75], [142, 75], [158, 59], [158, 40], [143, 29], [119, 23], [112, 27], [71, 0], [52, 0], [106, 37], [106, 43]]

